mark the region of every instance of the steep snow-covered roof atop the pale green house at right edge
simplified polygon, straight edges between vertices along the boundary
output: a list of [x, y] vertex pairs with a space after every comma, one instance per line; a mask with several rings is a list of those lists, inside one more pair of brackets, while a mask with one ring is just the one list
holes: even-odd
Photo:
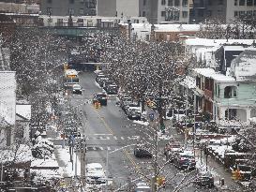
[[256, 81], [256, 48], [249, 47], [233, 60], [231, 74], [236, 81]]

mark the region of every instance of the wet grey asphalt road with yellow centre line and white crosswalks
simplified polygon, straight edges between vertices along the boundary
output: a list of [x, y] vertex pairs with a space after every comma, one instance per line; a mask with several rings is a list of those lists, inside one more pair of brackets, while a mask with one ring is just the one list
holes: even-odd
[[[151, 177], [154, 172], [152, 159], [136, 158], [133, 155], [134, 145], [142, 140], [148, 140], [145, 126], [141, 126], [128, 120], [125, 113], [116, 105], [115, 96], [111, 96], [107, 106], [95, 109], [90, 101], [93, 95], [102, 92], [95, 82], [93, 72], [80, 74], [80, 84], [84, 89], [83, 96], [71, 96], [70, 104], [77, 107], [83, 114], [83, 131], [86, 135], [87, 153], [86, 163], [98, 162], [107, 170], [113, 178], [115, 189], [128, 191], [128, 186], [135, 184], [142, 175]], [[85, 103], [85, 104], [84, 104]], [[178, 140], [183, 137], [172, 130], [170, 134]], [[60, 140], [61, 141], [61, 140]], [[161, 141], [158, 148], [158, 164], [164, 165], [163, 155], [164, 142]], [[107, 165], [108, 156], [108, 165]], [[164, 167], [164, 174], [167, 175], [166, 188], [161, 191], [173, 191], [177, 185], [188, 185], [179, 191], [218, 191], [217, 188], [202, 188], [192, 185], [195, 171], [181, 171], [168, 164]], [[122, 190], [121, 190], [122, 189]]]

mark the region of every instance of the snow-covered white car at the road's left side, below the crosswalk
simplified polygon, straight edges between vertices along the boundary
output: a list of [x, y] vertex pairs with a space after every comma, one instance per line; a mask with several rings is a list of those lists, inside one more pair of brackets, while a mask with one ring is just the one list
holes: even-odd
[[86, 180], [88, 184], [105, 184], [106, 173], [99, 163], [89, 163], [86, 165]]

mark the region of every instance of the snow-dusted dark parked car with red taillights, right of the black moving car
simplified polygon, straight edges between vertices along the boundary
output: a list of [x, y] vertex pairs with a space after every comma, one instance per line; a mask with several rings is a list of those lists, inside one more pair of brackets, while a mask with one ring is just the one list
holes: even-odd
[[196, 168], [196, 161], [192, 151], [176, 153], [173, 158], [173, 164], [179, 169], [194, 170]]

